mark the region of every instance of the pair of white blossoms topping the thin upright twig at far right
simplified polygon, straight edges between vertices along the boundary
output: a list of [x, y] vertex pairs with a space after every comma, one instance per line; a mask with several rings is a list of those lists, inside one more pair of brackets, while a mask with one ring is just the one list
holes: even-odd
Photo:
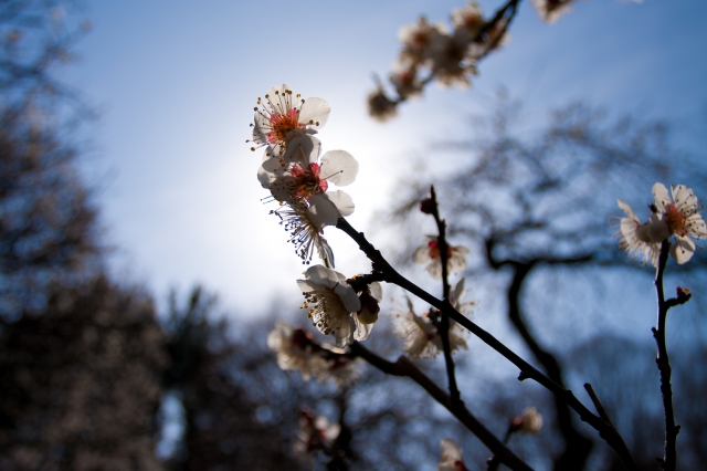
[[653, 185], [653, 196], [655, 203], [651, 205], [651, 218], [643, 223], [625, 201], [616, 200], [626, 214], [621, 219], [618, 232], [620, 245], [626, 253], [643, 257], [644, 263], [651, 261], [657, 268], [661, 244], [674, 237], [671, 254], [679, 264], [688, 262], [696, 249], [692, 239], [707, 238], [707, 227], [700, 214], [703, 207], [693, 190], [684, 185], [672, 186], [668, 195], [665, 185], [657, 182]]

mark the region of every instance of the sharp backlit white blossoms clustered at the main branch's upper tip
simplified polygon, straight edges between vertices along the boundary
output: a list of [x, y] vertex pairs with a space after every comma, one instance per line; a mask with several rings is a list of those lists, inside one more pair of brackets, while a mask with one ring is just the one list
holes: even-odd
[[264, 148], [257, 179], [271, 191], [279, 208], [277, 214], [289, 232], [297, 255], [309, 263], [313, 255], [334, 266], [334, 252], [323, 237], [326, 226], [354, 212], [351, 197], [329, 190], [331, 184], [346, 186], [356, 179], [358, 161], [347, 151], [321, 154], [314, 137], [329, 117], [329, 105], [321, 98], [302, 100], [285, 84], [272, 87], [257, 98], [251, 150]]

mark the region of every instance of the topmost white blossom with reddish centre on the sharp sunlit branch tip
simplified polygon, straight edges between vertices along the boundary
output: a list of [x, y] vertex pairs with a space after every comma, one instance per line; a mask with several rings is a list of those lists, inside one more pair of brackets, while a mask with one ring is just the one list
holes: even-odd
[[265, 146], [265, 155], [282, 155], [287, 143], [303, 134], [314, 134], [329, 118], [329, 104], [323, 98], [302, 100], [286, 84], [274, 86], [257, 98], [253, 126], [256, 147]]

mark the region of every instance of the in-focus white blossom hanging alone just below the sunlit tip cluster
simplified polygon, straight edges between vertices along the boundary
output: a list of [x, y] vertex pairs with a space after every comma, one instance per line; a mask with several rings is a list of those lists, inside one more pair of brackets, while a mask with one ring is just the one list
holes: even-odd
[[[373, 324], [359, 318], [359, 314], [368, 316], [368, 313], [346, 276], [321, 265], [310, 266], [304, 275], [304, 280], [297, 280], [305, 296], [303, 308], [309, 310], [307, 316], [319, 332], [334, 334], [336, 344], [342, 347], [368, 338]], [[380, 302], [382, 289], [379, 283], [371, 283], [369, 293], [362, 294], [370, 294]]]

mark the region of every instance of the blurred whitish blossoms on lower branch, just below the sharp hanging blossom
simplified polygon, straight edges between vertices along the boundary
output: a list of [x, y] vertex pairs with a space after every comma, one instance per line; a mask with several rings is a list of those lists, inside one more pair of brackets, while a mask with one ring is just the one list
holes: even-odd
[[298, 370], [305, 381], [333, 381], [337, 387], [351, 384], [360, 376], [358, 359], [344, 355], [341, 348], [319, 345], [313, 335], [277, 322], [267, 335], [267, 346], [277, 355], [277, 365], [285, 371]]

